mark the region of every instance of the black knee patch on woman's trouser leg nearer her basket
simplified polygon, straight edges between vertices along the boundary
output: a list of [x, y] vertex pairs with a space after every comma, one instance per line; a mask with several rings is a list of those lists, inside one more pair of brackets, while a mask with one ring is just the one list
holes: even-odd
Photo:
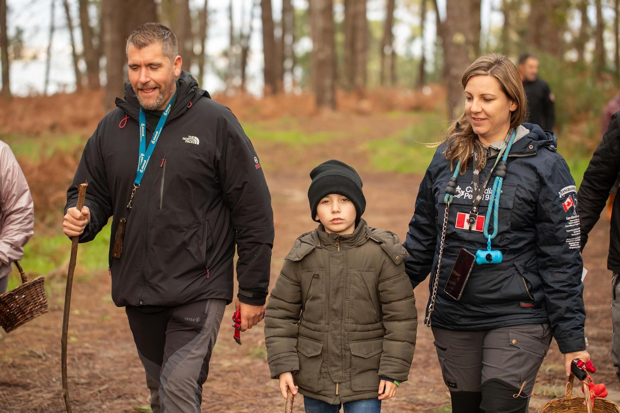
[[[490, 379], [482, 383], [482, 413], [527, 413], [529, 394], [519, 393], [519, 389], [503, 380]], [[526, 397], [527, 396], [527, 397]]]

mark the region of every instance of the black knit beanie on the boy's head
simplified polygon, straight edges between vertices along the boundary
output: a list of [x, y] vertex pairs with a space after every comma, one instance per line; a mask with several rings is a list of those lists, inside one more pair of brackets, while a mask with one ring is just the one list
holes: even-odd
[[357, 212], [356, 221], [360, 220], [361, 215], [366, 210], [366, 198], [361, 191], [360, 175], [355, 169], [344, 162], [332, 159], [312, 169], [310, 178], [312, 183], [308, 188], [308, 200], [310, 201], [312, 220], [317, 221], [315, 219], [316, 208], [321, 199], [330, 193], [344, 195], [353, 202]]

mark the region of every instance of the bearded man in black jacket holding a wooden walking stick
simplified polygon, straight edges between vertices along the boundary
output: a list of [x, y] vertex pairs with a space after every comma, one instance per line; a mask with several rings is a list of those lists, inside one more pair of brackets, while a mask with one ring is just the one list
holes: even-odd
[[[64, 233], [91, 241], [112, 219], [112, 298], [125, 306], [153, 412], [200, 411], [233, 293], [241, 330], [262, 319], [273, 212], [259, 158], [232, 112], [180, 70], [177, 40], [149, 23], [127, 40], [125, 100], [86, 143]], [[75, 185], [87, 180], [85, 207]]]

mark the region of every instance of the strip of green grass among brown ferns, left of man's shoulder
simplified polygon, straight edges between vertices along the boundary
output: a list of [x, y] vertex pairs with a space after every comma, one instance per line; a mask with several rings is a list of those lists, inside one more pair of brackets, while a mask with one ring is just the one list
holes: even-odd
[[56, 151], [71, 153], [84, 146], [79, 135], [44, 135], [35, 138], [24, 135], [0, 136], [2, 141], [11, 146], [17, 158], [38, 161], [42, 156], [51, 156]]

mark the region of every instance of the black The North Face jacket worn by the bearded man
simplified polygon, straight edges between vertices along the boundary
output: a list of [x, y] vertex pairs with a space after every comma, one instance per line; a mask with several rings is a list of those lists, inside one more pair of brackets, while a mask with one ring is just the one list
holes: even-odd
[[[259, 158], [231, 110], [210, 99], [187, 72], [141, 185], [126, 210], [138, 164], [139, 104], [130, 84], [126, 101], [105, 115], [86, 143], [75, 185], [89, 182], [91, 241], [112, 220], [110, 274], [117, 306], [177, 306], [206, 298], [232, 300], [237, 246], [239, 300], [265, 303], [273, 245], [271, 197]], [[147, 138], [153, 134], [149, 129]], [[112, 256], [120, 218], [123, 252]]]

